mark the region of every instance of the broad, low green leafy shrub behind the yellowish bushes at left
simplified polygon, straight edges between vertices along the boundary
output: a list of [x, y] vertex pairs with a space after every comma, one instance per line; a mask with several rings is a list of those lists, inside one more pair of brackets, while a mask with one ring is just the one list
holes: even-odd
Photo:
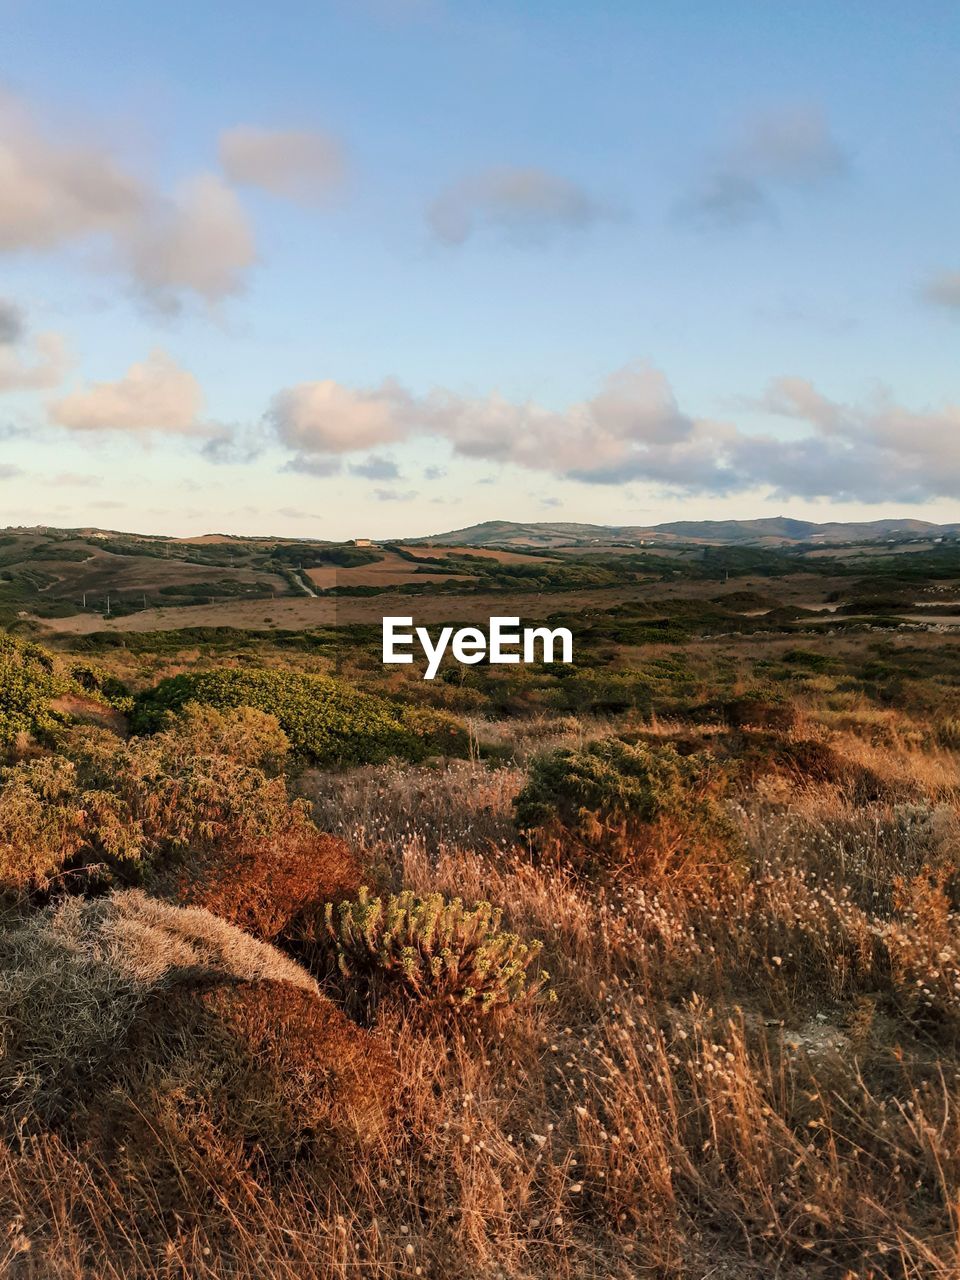
[[289, 671], [219, 668], [163, 680], [137, 699], [134, 731], [163, 727], [165, 713], [187, 703], [269, 712], [293, 749], [315, 764], [422, 760], [467, 750], [466, 731], [442, 712], [396, 707], [330, 676]]

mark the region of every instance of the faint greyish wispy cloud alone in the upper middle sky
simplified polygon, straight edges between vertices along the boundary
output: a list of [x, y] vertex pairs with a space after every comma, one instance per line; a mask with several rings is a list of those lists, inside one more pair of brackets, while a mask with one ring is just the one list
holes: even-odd
[[611, 211], [579, 183], [545, 169], [488, 169], [447, 187], [428, 209], [428, 223], [444, 244], [462, 244], [477, 229], [493, 229], [522, 244], [557, 232], [584, 230]]

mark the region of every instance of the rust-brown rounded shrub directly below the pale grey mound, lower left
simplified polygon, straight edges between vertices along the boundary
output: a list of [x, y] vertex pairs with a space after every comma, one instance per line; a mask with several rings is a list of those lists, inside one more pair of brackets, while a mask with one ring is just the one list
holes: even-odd
[[[230, 1151], [242, 1167], [343, 1175], [385, 1135], [394, 1069], [380, 1039], [285, 982], [157, 992], [111, 1064], [84, 1137], [163, 1178]], [[160, 1142], [157, 1143], [157, 1138]]]

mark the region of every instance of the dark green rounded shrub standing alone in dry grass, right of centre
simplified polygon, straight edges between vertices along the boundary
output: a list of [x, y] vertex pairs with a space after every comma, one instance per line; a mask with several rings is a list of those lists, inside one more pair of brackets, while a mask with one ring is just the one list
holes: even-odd
[[714, 788], [703, 756], [607, 739], [534, 759], [513, 812], [521, 832], [541, 849], [558, 836], [580, 846], [567, 847], [576, 861], [580, 852], [623, 854], [649, 835], [643, 828], [663, 819], [680, 823], [689, 837], [727, 837]]

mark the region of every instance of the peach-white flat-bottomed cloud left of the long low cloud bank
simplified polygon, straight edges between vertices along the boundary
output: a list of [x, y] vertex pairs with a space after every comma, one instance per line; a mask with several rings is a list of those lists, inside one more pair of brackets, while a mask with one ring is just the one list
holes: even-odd
[[50, 419], [72, 431], [196, 435], [200, 383], [163, 351], [131, 365], [115, 383], [91, 383], [50, 404]]

